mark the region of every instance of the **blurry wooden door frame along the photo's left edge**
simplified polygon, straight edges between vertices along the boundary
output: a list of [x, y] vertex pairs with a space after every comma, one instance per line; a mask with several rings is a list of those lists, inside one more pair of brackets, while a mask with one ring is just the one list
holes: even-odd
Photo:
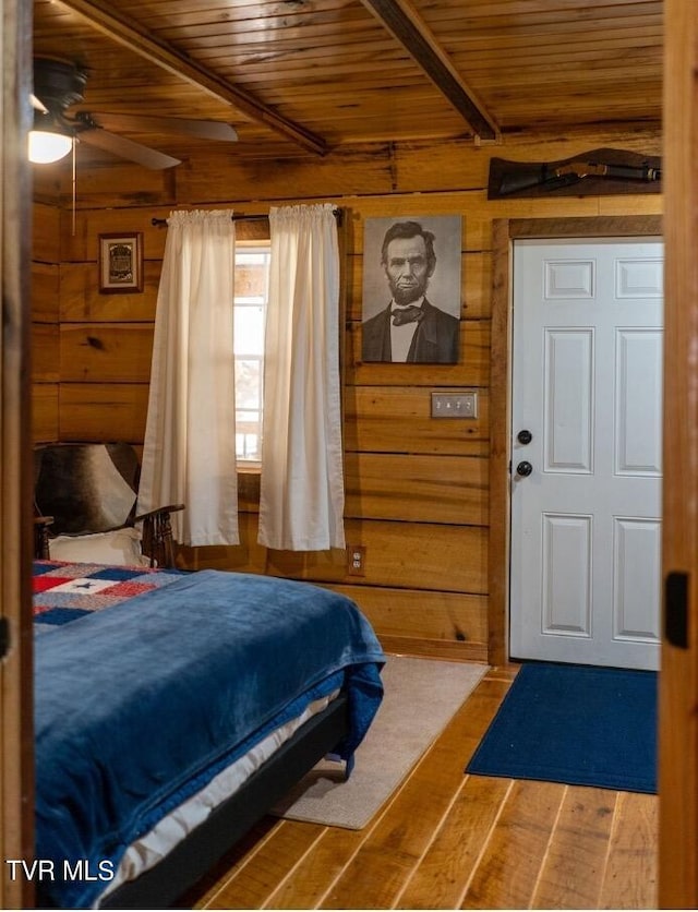
[[29, 164], [32, 5], [0, 0], [0, 908], [32, 908], [33, 888], [5, 859], [34, 855], [32, 484], [29, 349]]

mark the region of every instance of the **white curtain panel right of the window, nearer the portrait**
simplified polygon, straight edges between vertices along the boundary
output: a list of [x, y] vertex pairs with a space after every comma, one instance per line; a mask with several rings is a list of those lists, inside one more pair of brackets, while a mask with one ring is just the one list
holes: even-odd
[[332, 205], [273, 207], [258, 542], [345, 547], [339, 253]]

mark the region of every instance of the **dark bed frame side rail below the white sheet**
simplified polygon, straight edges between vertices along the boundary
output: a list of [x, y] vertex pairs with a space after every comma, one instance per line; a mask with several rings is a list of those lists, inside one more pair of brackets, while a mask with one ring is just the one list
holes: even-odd
[[164, 909], [191, 889], [348, 731], [340, 694], [154, 868], [109, 893], [101, 909]]

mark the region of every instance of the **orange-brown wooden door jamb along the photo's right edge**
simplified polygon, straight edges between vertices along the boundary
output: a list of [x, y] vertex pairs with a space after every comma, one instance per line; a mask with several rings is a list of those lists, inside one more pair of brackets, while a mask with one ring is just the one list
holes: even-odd
[[[698, 907], [698, 15], [664, 4], [664, 491], [662, 565], [686, 575], [686, 647], [662, 644], [660, 675], [661, 909]], [[679, 608], [679, 605], [674, 605]], [[665, 613], [667, 608], [665, 605]]]

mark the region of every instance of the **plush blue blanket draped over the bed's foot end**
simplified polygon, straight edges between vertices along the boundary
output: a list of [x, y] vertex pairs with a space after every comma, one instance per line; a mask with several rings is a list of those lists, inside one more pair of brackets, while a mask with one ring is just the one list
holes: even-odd
[[[107, 886], [94, 875], [129, 843], [337, 686], [351, 721], [337, 752], [350, 758], [378, 708], [383, 662], [344, 596], [218, 571], [38, 637], [36, 856], [55, 873], [43, 898], [89, 907]], [[92, 879], [63, 877], [77, 862]]]

